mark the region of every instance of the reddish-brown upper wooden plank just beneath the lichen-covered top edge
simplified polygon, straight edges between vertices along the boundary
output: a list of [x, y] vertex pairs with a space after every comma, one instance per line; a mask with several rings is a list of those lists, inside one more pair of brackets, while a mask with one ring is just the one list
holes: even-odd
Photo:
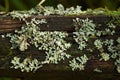
[[[76, 17], [81, 19], [92, 19], [96, 24], [105, 24], [104, 22], [111, 20], [111, 17], [108, 16], [32, 16], [31, 18], [36, 19], [46, 19], [47, 24], [40, 26], [41, 31], [74, 31], [74, 26], [72, 20]], [[100, 20], [101, 19], [101, 20]], [[29, 19], [28, 19], [29, 20]], [[104, 22], [103, 22], [104, 21]], [[0, 32], [4, 30], [4, 32], [10, 32], [7, 29], [11, 29], [13, 31], [14, 29], [18, 29], [21, 25], [23, 25], [23, 21], [19, 21], [17, 19], [12, 18], [1, 18], [0, 19]], [[104, 27], [104, 26], [101, 26]], [[2, 31], [1, 31], [2, 30]]]

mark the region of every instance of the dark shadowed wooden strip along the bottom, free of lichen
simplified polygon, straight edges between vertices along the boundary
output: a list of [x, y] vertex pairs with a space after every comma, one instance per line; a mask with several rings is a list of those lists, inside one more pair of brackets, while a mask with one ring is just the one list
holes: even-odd
[[[78, 72], [78, 71], [39, 71], [36, 73], [21, 73], [16, 70], [0, 70], [0, 76], [7, 77], [19, 77], [22, 80], [119, 80], [119, 74], [111, 73], [89, 73], [89, 72]], [[11, 74], [13, 73], [13, 74]], [[25, 77], [25, 78], [24, 78]]]

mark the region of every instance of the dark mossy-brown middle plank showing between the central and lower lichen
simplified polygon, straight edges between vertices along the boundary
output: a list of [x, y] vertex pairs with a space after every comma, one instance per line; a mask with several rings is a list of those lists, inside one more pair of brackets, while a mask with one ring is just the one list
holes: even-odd
[[[101, 37], [100, 39], [116, 39], [118, 36], [107, 36], [107, 37]], [[74, 42], [73, 39], [71, 39], [69, 42], [74, 43], [72, 44], [72, 47], [70, 49], [68, 49], [68, 51], [66, 53], [71, 54], [72, 56], [80, 56], [83, 53], [86, 53], [87, 55], [90, 55], [90, 61], [88, 61], [88, 63], [86, 64], [86, 69], [88, 71], [93, 71], [93, 69], [95, 68], [100, 68], [103, 69], [104, 72], [107, 73], [112, 73], [115, 70], [115, 66], [113, 65], [113, 61], [99, 61], [99, 57], [96, 57], [98, 54], [100, 54], [100, 52], [98, 50], [93, 50], [93, 52], [89, 52], [87, 49], [95, 47], [93, 43], [94, 39], [91, 40], [90, 43], [88, 43], [91, 46], [88, 46], [86, 49], [84, 49], [83, 51], [80, 51], [78, 49], [78, 44]], [[15, 50], [11, 50], [11, 44], [9, 43], [9, 39], [7, 38], [1, 38], [0, 39], [0, 69], [9, 69], [11, 64], [10, 61], [14, 56], [17, 57], [21, 57], [21, 59], [24, 59], [25, 57], [27, 57], [28, 55], [32, 55], [33, 58], [37, 58], [39, 61], [44, 60], [45, 59], [45, 52], [44, 51], [39, 51], [37, 50], [35, 47], [29, 47], [28, 50], [21, 52], [18, 49]], [[40, 70], [71, 70], [70, 67], [68, 67], [68, 60], [66, 60], [66, 62], [62, 62], [58, 65], [45, 65], [43, 68], [41, 68]]]

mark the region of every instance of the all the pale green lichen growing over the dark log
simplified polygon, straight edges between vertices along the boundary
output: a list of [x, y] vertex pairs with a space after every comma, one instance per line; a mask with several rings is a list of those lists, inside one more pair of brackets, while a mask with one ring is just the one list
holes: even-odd
[[[60, 61], [64, 61], [66, 58], [68, 60], [68, 66], [74, 70], [84, 70], [86, 63], [91, 59], [89, 53], [97, 51], [98, 58], [101, 61], [109, 61], [112, 59], [116, 65], [117, 71], [120, 73], [120, 38], [112, 39], [101, 37], [114, 36], [116, 33], [116, 20], [119, 18], [114, 17], [108, 23], [105, 23], [103, 28], [102, 24], [95, 24], [91, 19], [73, 19], [73, 24], [75, 31], [73, 34], [73, 40], [78, 45], [78, 50], [81, 56], [75, 57], [67, 53], [72, 44], [67, 42], [65, 38], [69, 35], [65, 31], [41, 31], [40, 27], [43, 24], [47, 24], [46, 19], [30, 18], [32, 15], [80, 15], [80, 14], [106, 14], [112, 15], [117, 14], [117, 12], [111, 13], [107, 10], [87, 10], [82, 11], [80, 6], [76, 8], [64, 8], [63, 5], [59, 4], [57, 8], [45, 7], [45, 11], [36, 7], [29, 11], [13, 11], [7, 15], [10, 15], [13, 19], [18, 18], [25, 22], [24, 25], [14, 33], [7, 34], [10, 38], [12, 44], [11, 49], [19, 49], [20, 51], [29, 50], [29, 47], [36, 47], [39, 51], [43, 51], [46, 55], [43, 61], [37, 59], [32, 59], [32, 56], [27, 56], [25, 59], [20, 57], [14, 57], [11, 61], [12, 67], [14, 69], [20, 69], [21, 71], [36, 71], [37, 69], [44, 66], [44, 64], [58, 64]], [[115, 16], [114, 15], [114, 16]], [[30, 18], [30, 20], [28, 20]], [[117, 24], [118, 25], [118, 24]], [[100, 27], [102, 27], [100, 29]], [[2, 37], [4, 37], [2, 35]], [[92, 41], [93, 43], [91, 43]], [[92, 46], [92, 47], [91, 47]], [[88, 48], [89, 47], [89, 48]], [[84, 53], [84, 51], [88, 53]], [[102, 72], [101, 69], [95, 68], [93, 71]]]

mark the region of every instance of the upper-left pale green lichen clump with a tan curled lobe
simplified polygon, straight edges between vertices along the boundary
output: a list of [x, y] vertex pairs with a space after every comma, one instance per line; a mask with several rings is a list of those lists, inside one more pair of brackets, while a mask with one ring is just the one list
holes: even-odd
[[[10, 42], [12, 43], [11, 49], [19, 48], [21, 51], [25, 51], [30, 46], [30, 43], [33, 41], [33, 38], [38, 35], [39, 27], [37, 24], [46, 23], [44, 19], [36, 20], [33, 18], [30, 23], [26, 23], [21, 27], [21, 30], [15, 30], [15, 34], [7, 34], [7, 37], [10, 37]], [[29, 43], [28, 43], [29, 39]]]

